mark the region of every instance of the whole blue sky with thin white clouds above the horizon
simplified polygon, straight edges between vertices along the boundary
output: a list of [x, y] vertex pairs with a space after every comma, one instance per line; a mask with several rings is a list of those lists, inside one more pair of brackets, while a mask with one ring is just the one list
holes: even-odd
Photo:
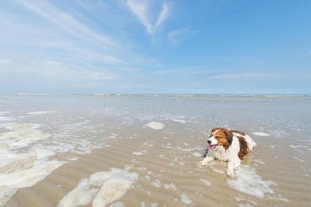
[[0, 4], [0, 93], [311, 93], [311, 1]]

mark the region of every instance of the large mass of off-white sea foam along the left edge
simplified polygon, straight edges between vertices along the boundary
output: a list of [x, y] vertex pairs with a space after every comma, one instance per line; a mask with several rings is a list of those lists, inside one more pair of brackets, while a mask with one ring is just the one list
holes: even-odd
[[[6, 127], [9, 132], [0, 134], [0, 206], [6, 204], [19, 188], [34, 186], [65, 163], [49, 160], [55, 155], [53, 151], [29, 148], [32, 142], [50, 137], [35, 129], [37, 127], [35, 124], [11, 125]], [[22, 147], [23, 152], [19, 152]]]

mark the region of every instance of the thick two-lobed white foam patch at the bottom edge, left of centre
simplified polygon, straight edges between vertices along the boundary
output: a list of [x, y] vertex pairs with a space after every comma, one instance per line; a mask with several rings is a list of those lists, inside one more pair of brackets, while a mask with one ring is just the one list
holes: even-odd
[[90, 204], [94, 197], [93, 206], [106, 206], [120, 199], [137, 179], [137, 173], [119, 168], [96, 172], [89, 179], [80, 179], [78, 186], [63, 197], [58, 206], [82, 206]]

